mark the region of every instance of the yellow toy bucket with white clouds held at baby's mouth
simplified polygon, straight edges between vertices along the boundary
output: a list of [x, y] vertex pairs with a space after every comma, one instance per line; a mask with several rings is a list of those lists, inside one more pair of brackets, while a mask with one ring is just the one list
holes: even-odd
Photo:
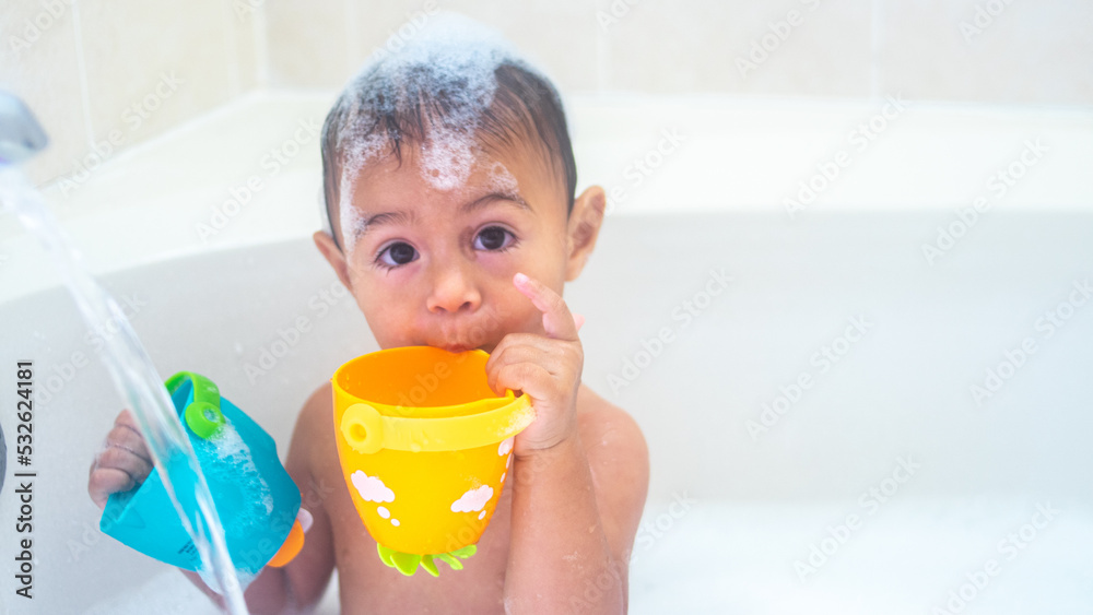
[[461, 568], [493, 516], [527, 395], [497, 397], [482, 351], [430, 346], [356, 357], [331, 379], [338, 458], [380, 557], [403, 573]]

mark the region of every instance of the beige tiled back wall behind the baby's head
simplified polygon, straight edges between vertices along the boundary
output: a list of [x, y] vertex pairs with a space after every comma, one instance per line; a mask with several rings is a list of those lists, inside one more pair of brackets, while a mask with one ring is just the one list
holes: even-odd
[[853, 98], [902, 91], [931, 100], [1093, 104], [1089, 0], [271, 0], [266, 8], [280, 86], [340, 86], [387, 36], [412, 36], [436, 8], [501, 29], [568, 92]]

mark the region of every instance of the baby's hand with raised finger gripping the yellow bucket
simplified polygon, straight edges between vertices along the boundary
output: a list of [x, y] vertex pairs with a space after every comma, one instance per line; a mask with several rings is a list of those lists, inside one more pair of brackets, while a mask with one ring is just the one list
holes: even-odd
[[557, 293], [522, 273], [516, 288], [543, 312], [545, 336], [509, 333], [497, 344], [485, 371], [490, 388], [522, 391], [531, 398], [536, 419], [516, 436], [517, 457], [554, 447], [576, 433], [577, 389], [585, 354], [577, 339], [578, 323]]

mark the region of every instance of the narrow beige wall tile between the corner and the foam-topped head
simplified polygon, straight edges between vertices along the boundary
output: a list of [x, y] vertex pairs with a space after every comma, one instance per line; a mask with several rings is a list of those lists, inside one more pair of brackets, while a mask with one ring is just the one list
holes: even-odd
[[271, 85], [337, 88], [348, 81], [351, 24], [346, 7], [346, 0], [265, 4]]

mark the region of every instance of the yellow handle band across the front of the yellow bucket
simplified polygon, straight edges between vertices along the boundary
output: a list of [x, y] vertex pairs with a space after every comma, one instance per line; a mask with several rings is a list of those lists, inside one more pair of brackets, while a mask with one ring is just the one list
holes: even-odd
[[365, 454], [383, 449], [435, 452], [483, 447], [519, 434], [536, 417], [528, 397], [517, 398], [513, 391], [453, 406], [411, 409], [425, 414], [460, 409], [460, 416], [397, 416], [408, 406], [366, 402], [345, 391], [338, 385], [341, 369], [331, 378], [334, 388], [357, 401], [345, 409], [339, 428], [350, 448]]

